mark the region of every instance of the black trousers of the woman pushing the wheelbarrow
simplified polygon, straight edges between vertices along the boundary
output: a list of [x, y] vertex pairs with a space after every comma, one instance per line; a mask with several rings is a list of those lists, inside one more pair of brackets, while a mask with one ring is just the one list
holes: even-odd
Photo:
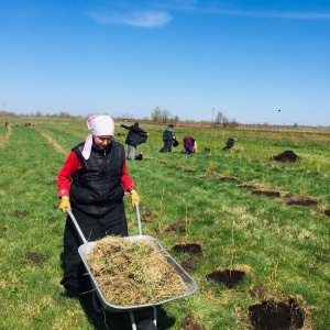
[[[128, 222], [123, 202], [114, 205], [110, 211], [101, 216], [92, 216], [73, 207], [73, 213], [87, 241], [94, 242], [107, 235], [128, 235]], [[70, 217], [66, 219], [64, 229], [64, 276], [61, 284], [65, 288], [86, 289], [89, 285], [89, 276], [78, 253], [82, 244]]]

